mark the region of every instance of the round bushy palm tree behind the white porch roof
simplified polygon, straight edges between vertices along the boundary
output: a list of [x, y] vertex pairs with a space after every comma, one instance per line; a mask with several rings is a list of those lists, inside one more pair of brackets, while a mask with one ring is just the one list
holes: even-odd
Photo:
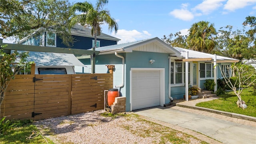
[[214, 35], [216, 35], [214, 24], [200, 21], [192, 24], [187, 38], [188, 47], [199, 52], [209, 53], [215, 46]]

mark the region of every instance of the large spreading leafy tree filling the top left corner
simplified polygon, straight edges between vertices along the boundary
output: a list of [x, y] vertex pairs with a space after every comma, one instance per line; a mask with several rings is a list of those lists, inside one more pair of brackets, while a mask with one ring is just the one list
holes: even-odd
[[0, 0], [0, 36], [24, 38], [35, 30], [54, 30], [71, 46], [68, 0]]

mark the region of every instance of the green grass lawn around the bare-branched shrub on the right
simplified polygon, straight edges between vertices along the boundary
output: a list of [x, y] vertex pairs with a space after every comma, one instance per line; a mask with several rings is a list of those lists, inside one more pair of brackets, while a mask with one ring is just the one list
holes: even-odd
[[241, 94], [242, 100], [244, 100], [247, 105], [247, 108], [244, 110], [237, 107], [236, 102], [238, 98], [233, 91], [218, 95], [218, 97], [221, 98], [208, 102], [200, 102], [196, 104], [196, 106], [256, 117], [256, 96], [252, 93], [250, 88], [245, 88]]

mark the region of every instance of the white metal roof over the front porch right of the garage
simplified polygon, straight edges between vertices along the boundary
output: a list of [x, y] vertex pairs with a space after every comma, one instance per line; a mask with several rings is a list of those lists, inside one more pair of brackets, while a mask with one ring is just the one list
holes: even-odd
[[[212, 59], [214, 59], [214, 54], [207, 54], [204, 52], [198, 52], [198, 51], [188, 50], [188, 49], [179, 48], [179, 47], [174, 47], [174, 48], [181, 53], [181, 56], [183, 56], [183, 58], [185, 58], [186, 52], [188, 52], [188, 58], [212, 58]], [[234, 58], [228, 58], [228, 57], [218, 56], [218, 55], [216, 55], [216, 57], [217, 57], [217, 60], [237, 60]]]

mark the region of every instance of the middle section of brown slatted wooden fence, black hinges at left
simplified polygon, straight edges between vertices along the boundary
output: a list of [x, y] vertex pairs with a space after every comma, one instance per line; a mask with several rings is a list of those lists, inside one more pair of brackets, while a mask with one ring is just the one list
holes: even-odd
[[32, 112], [34, 120], [68, 115], [68, 107], [71, 104], [70, 78], [71, 75], [68, 74], [35, 75], [34, 112]]

